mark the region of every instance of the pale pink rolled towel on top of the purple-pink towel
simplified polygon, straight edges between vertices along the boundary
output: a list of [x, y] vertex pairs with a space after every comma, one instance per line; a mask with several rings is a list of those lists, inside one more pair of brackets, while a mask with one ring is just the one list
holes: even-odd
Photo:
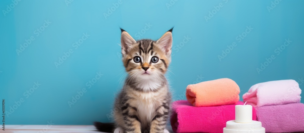
[[301, 89], [295, 80], [277, 80], [255, 84], [243, 95], [253, 107], [299, 103]]

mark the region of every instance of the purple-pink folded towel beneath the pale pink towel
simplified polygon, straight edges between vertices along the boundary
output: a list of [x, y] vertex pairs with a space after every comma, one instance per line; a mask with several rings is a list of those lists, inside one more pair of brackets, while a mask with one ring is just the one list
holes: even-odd
[[269, 133], [304, 132], [304, 104], [257, 107], [257, 120]]

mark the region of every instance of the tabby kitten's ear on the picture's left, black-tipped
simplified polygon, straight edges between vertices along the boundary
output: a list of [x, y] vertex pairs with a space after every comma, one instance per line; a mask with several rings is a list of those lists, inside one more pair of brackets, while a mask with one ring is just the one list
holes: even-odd
[[123, 55], [125, 55], [128, 50], [130, 50], [130, 46], [132, 46], [132, 44], [136, 43], [136, 40], [134, 40], [131, 35], [129, 33], [127, 33], [125, 30], [123, 30], [122, 28], [120, 28], [121, 30], [121, 53]]

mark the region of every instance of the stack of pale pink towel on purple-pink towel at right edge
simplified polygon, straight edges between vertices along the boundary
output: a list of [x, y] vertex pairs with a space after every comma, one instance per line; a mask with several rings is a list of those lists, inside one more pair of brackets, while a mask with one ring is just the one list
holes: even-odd
[[258, 83], [243, 95], [244, 101], [256, 107], [257, 120], [269, 133], [303, 132], [304, 104], [295, 80]]

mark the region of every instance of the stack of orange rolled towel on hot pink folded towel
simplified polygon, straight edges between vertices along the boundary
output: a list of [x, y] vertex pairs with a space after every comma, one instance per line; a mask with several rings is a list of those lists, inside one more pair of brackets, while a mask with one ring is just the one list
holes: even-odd
[[[173, 102], [171, 126], [176, 133], [222, 133], [226, 122], [235, 119], [240, 88], [232, 79], [216, 79], [188, 85], [187, 100]], [[257, 120], [253, 108], [252, 119]]]

